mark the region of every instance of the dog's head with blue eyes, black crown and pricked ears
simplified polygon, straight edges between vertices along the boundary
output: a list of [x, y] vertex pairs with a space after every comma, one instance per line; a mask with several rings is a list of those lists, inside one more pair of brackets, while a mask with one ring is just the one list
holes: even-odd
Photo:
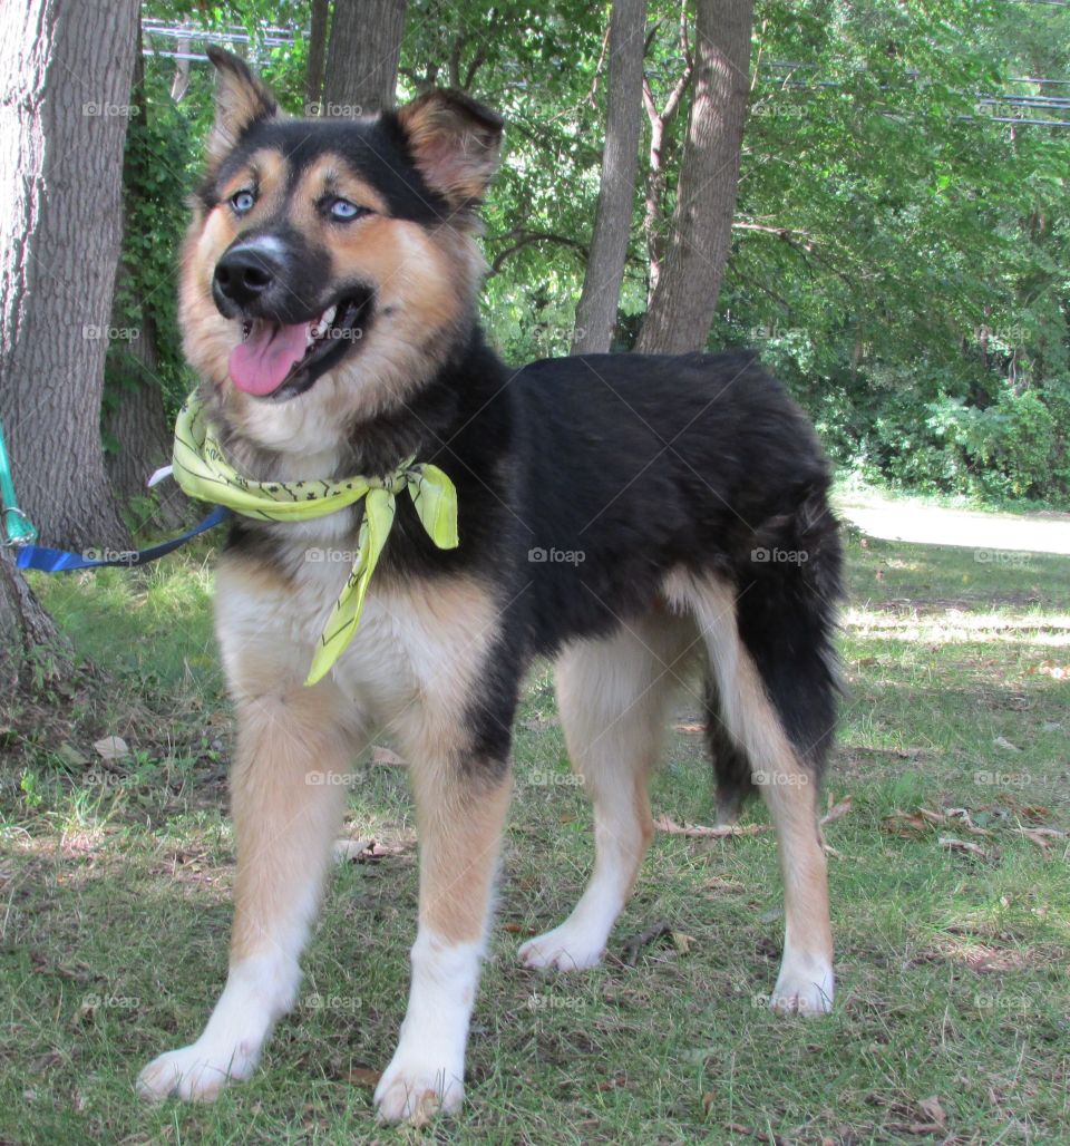
[[236, 433], [329, 450], [466, 337], [502, 120], [439, 91], [375, 118], [291, 119], [241, 60], [210, 55], [215, 124], [183, 249], [186, 354]]

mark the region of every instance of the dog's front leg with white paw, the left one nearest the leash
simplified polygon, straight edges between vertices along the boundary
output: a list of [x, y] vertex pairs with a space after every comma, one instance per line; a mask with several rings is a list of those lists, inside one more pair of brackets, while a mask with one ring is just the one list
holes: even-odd
[[297, 995], [298, 958], [340, 819], [352, 706], [328, 682], [273, 684], [235, 689], [237, 877], [227, 986], [200, 1037], [141, 1072], [147, 1098], [211, 1101], [228, 1082], [247, 1078]]

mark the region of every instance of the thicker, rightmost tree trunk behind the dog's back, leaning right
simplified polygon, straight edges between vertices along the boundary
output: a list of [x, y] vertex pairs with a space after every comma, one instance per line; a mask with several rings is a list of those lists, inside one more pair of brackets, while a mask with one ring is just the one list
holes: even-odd
[[637, 350], [702, 350], [732, 242], [747, 116], [753, 0], [698, 0], [694, 96], [664, 268]]

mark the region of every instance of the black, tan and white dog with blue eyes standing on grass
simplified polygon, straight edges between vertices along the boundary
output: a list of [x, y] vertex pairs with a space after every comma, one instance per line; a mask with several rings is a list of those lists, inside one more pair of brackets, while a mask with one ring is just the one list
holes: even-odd
[[[816, 813], [841, 549], [804, 416], [749, 354], [506, 369], [477, 322], [477, 210], [501, 119], [440, 91], [376, 118], [289, 119], [241, 61], [212, 58], [217, 118], [181, 272], [203, 417], [244, 478], [326, 488], [359, 474], [400, 492], [360, 623], [312, 685], [349, 573], [329, 558], [360, 549], [364, 502], [235, 519], [215, 596], [238, 719], [230, 968], [204, 1033], [150, 1062], [140, 1090], [211, 1099], [252, 1074], [294, 1003], [353, 758], [387, 729], [415, 792], [419, 921], [375, 1100], [385, 1121], [461, 1106], [510, 729], [536, 657], [556, 660], [597, 855], [572, 915], [520, 961], [601, 958], [653, 834], [666, 708], [698, 662], [722, 811], [757, 788], [778, 834], [772, 1007], [827, 1011]], [[453, 547], [391, 485], [425, 463], [456, 493]]]

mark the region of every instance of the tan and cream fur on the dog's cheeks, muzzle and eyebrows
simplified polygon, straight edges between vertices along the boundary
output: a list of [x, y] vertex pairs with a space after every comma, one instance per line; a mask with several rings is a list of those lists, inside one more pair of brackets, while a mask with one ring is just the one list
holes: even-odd
[[[273, 197], [285, 186], [283, 157], [263, 150], [257, 152], [255, 164], [263, 180], [261, 194], [269, 199], [263, 210], [277, 214], [282, 204]], [[353, 202], [379, 213], [330, 234], [321, 218], [313, 223], [309, 204], [329, 186], [328, 176], [339, 193], [345, 188]], [[233, 182], [239, 189], [243, 176]], [[330, 251], [324, 306], [333, 296], [333, 282], [367, 282], [376, 293], [375, 317], [361, 346], [324, 374], [300, 403], [262, 402], [230, 383], [228, 361], [241, 342], [241, 323], [225, 319], [212, 300], [215, 265], [246, 227], [265, 217], [259, 205], [242, 220], [226, 203], [198, 212], [182, 249], [179, 317], [186, 356], [204, 379], [210, 408], [228, 429], [235, 462], [262, 480], [333, 476], [351, 427], [401, 406], [438, 370], [469, 320], [470, 300], [486, 266], [467, 230], [446, 225], [428, 230], [383, 213], [378, 196], [338, 156], [326, 157], [302, 178], [286, 210], [294, 226], [314, 226], [312, 240], [318, 235]], [[260, 449], [281, 456], [265, 468]]]

